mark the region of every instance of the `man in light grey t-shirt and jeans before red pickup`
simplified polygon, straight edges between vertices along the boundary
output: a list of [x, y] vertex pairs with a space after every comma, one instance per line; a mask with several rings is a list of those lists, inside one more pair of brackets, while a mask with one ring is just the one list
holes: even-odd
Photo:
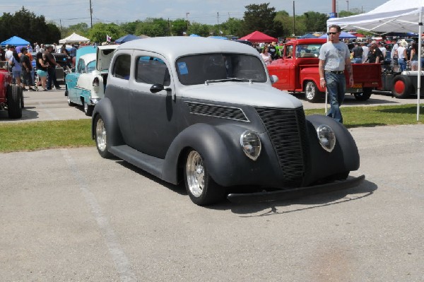
[[348, 71], [349, 86], [353, 86], [353, 72], [351, 56], [346, 43], [338, 40], [341, 28], [331, 25], [329, 28], [329, 42], [319, 50], [319, 77], [322, 88], [326, 87], [329, 93], [330, 110], [327, 114], [337, 122], [343, 123], [340, 106], [346, 92], [346, 78], [344, 71]]

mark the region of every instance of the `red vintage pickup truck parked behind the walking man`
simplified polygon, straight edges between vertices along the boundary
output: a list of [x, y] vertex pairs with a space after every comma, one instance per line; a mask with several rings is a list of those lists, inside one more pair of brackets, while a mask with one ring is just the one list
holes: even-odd
[[[322, 100], [325, 88], [319, 85], [318, 57], [319, 49], [325, 42], [326, 39], [319, 38], [287, 42], [281, 59], [267, 66], [270, 76], [278, 76], [278, 81], [273, 86], [290, 92], [305, 92], [305, 98], [310, 102]], [[354, 85], [352, 88], [346, 88], [346, 93], [355, 95], [356, 100], [368, 100], [372, 89], [382, 86], [382, 67], [380, 64], [352, 66]]]

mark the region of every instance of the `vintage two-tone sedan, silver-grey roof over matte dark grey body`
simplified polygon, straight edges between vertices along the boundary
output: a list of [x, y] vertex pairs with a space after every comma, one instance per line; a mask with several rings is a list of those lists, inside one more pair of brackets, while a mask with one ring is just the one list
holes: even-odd
[[103, 158], [184, 182], [198, 205], [358, 185], [363, 176], [347, 179], [360, 165], [349, 131], [330, 117], [305, 117], [300, 100], [271, 86], [276, 79], [238, 42], [126, 42], [114, 52], [92, 136]]

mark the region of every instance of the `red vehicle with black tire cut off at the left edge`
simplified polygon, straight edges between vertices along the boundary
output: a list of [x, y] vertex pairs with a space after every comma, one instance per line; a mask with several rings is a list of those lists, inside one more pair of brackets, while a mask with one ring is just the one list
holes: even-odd
[[23, 109], [22, 88], [12, 85], [8, 61], [0, 61], [0, 110], [7, 110], [8, 117], [20, 119]]

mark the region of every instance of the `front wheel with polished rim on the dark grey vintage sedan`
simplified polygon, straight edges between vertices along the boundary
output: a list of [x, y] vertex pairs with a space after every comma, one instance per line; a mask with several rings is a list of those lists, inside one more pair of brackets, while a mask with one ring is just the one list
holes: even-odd
[[195, 150], [187, 155], [184, 165], [184, 183], [190, 199], [199, 206], [214, 204], [225, 196], [225, 189], [213, 181], [206, 169], [204, 159]]

